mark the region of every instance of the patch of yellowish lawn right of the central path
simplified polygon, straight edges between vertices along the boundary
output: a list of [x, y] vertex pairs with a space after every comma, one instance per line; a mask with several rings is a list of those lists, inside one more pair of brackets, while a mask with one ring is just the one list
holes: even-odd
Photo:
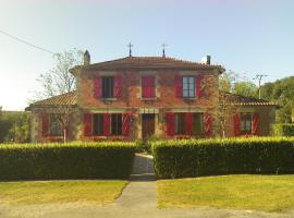
[[294, 175], [221, 175], [160, 180], [159, 208], [294, 208]]

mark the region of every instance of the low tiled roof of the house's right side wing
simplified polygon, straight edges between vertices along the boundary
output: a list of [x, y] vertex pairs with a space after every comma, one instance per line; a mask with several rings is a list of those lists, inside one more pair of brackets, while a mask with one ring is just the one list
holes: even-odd
[[271, 101], [258, 99], [258, 98], [253, 98], [253, 97], [245, 97], [245, 96], [236, 95], [232, 93], [222, 93], [222, 95], [229, 96], [229, 98], [231, 98], [231, 100], [235, 105], [241, 105], [241, 106], [278, 106], [275, 102], [271, 102]]

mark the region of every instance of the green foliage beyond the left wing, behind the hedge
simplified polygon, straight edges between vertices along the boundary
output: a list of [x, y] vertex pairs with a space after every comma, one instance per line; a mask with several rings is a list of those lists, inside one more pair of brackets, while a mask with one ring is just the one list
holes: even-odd
[[28, 143], [30, 113], [21, 111], [0, 112], [0, 143]]

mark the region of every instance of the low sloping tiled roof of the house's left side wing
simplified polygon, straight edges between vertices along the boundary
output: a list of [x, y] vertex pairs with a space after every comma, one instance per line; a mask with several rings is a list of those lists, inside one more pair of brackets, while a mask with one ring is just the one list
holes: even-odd
[[76, 105], [76, 90], [65, 93], [62, 95], [57, 95], [51, 98], [47, 98], [44, 100], [38, 100], [29, 107], [38, 107], [38, 106], [74, 106]]

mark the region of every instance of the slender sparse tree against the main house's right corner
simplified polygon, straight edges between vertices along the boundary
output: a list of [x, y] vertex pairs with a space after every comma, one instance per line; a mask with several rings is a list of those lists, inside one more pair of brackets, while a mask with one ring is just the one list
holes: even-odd
[[[237, 99], [231, 95], [233, 83], [237, 75], [234, 72], [224, 72], [219, 80], [217, 76], [206, 76], [204, 80], [205, 95], [210, 106], [207, 110], [213, 120], [213, 129], [218, 135], [225, 137], [226, 130], [233, 125], [232, 117], [236, 113], [240, 106]], [[216, 90], [218, 87], [219, 92]]]

